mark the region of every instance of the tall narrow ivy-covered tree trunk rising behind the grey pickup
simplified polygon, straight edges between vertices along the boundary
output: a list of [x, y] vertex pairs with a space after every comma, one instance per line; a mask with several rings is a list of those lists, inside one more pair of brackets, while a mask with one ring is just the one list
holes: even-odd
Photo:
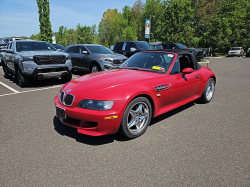
[[36, 0], [40, 22], [40, 39], [52, 42], [49, 0]]

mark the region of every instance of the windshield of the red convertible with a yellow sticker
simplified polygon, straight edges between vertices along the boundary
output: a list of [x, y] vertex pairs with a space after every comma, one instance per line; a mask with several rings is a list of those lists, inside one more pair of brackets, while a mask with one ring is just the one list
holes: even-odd
[[166, 73], [174, 59], [172, 53], [142, 52], [135, 53], [126, 60], [120, 68], [139, 71], [151, 71], [155, 73]]

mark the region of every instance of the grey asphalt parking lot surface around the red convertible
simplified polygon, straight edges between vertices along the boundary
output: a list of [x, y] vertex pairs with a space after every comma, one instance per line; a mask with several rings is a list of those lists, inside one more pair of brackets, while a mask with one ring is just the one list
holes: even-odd
[[213, 100], [134, 140], [77, 134], [55, 117], [60, 80], [20, 88], [0, 68], [0, 186], [250, 186], [250, 58], [209, 61]]

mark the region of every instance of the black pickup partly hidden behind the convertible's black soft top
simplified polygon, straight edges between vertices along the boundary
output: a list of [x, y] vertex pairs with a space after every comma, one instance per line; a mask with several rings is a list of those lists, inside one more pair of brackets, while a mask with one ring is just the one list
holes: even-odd
[[196, 57], [196, 59], [198, 61], [201, 61], [201, 59], [203, 59], [204, 56], [204, 51], [200, 50], [200, 49], [195, 49], [195, 48], [188, 48], [187, 46], [180, 44], [180, 43], [167, 43], [167, 42], [163, 42], [162, 43], [162, 48], [163, 49], [182, 49], [182, 50], [187, 50], [190, 53], [193, 53], [194, 56]]

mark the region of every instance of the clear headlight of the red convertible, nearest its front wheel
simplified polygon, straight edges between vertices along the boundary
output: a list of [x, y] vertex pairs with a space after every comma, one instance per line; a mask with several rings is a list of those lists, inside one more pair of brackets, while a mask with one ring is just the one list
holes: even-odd
[[77, 107], [92, 110], [109, 110], [112, 108], [114, 101], [98, 101], [91, 99], [82, 100]]

